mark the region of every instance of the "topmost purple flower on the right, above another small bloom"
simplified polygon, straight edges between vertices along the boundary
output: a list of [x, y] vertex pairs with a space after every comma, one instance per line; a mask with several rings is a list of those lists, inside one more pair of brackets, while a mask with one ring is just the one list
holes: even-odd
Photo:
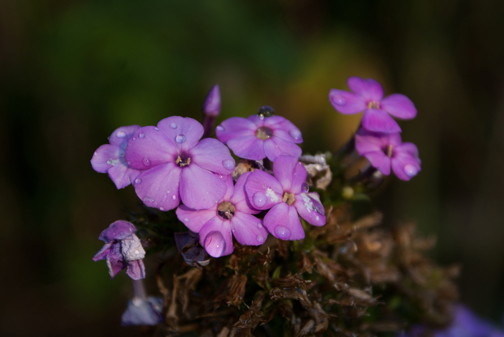
[[402, 94], [391, 94], [383, 98], [381, 85], [368, 78], [353, 76], [348, 79], [348, 87], [353, 91], [331, 89], [329, 100], [342, 114], [356, 114], [364, 111], [362, 127], [375, 132], [401, 132], [393, 118], [410, 120], [417, 115], [415, 104]]

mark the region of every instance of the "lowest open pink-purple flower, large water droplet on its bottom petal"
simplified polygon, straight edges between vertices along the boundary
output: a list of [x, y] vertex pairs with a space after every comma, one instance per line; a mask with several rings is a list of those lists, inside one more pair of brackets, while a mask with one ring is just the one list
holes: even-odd
[[186, 205], [177, 208], [179, 220], [199, 233], [201, 245], [213, 257], [233, 253], [233, 235], [242, 245], [258, 246], [266, 241], [268, 232], [262, 221], [252, 215], [260, 211], [249, 205], [245, 195], [249, 175], [250, 172], [241, 175], [235, 186], [228, 179], [226, 195], [211, 208], [195, 210]]

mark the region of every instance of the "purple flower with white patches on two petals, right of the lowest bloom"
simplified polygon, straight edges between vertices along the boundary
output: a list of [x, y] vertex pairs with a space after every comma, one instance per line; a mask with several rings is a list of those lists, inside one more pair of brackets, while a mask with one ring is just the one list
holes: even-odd
[[306, 168], [297, 157], [279, 156], [273, 161], [274, 178], [260, 170], [249, 176], [245, 191], [257, 209], [271, 208], [264, 216], [264, 226], [282, 240], [300, 240], [305, 232], [298, 213], [314, 226], [325, 224], [325, 211], [318, 193], [308, 192]]

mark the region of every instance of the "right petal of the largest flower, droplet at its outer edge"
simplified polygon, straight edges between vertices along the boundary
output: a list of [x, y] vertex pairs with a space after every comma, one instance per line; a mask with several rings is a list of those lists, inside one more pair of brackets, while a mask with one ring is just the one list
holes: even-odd
[[202, 139], [189, 150], [189, 156], [191, 162], [211, 172], [230, 175], [235, 170], [235, 159], [229, 149], [215, 138]]

